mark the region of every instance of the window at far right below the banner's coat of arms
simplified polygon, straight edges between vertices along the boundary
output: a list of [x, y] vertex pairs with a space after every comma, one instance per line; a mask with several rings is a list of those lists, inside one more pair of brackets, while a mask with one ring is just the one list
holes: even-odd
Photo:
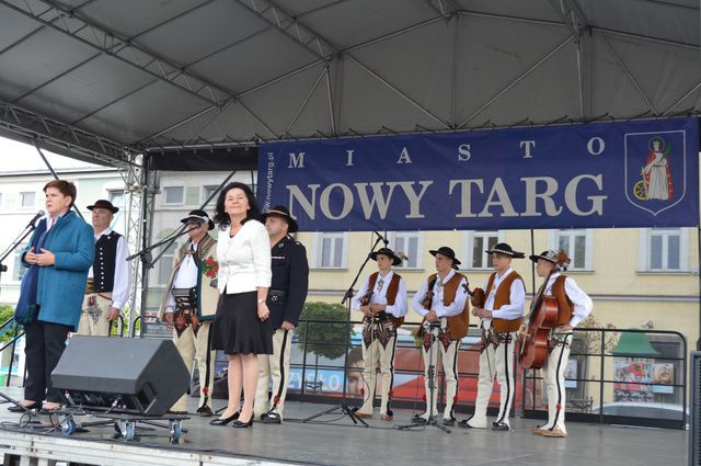
[[689, 230], [687, 228], [648, 228], [641, 230], [642, 270], [650, 272], [688, 269]]

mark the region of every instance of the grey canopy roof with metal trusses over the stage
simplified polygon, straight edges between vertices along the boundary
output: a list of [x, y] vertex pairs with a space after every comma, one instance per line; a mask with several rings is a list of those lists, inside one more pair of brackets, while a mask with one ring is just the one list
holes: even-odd
[[0, 0], [0, 132], [83, 159], [696, 114], [697, 0]]

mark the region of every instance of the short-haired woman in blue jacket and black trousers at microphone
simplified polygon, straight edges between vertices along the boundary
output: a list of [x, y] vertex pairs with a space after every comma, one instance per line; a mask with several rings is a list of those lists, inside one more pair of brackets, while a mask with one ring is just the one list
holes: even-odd
[[[51, 387], [68, 333], [76, 331], [93, 262], [93, 229], [70, 208], [76, 185], [54, 180], [44, 186], [47, 215], [39, 220], [22, 262], [28, 268], [15, 318], [26, 332], [27, 378], [20, 405], [44, 410], [60, 407], [61, 397]], [[44, 401], [46, 400], [46, 401]], [[21, 411], [15, 406], [11, 411]]]

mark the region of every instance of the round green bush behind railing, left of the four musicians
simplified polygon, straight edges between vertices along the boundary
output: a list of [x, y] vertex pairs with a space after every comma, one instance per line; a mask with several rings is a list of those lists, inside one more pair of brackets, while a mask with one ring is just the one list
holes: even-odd
[[[353, 328], [346, 326], [348, 310], [340, 304], [307, 303], [299, 327], [295, 330], [299, 344], [307, 342], [307, 350], [320, 356], [335, 360], [350, 346]], [[304, 320], [333, 320], [334, 322], [304, 322]], [[335, 323], [338, 322], [338, 323]]]

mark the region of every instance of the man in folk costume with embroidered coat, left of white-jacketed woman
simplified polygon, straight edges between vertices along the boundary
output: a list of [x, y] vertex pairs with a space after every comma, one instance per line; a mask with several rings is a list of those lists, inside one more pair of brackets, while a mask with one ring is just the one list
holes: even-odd
[[[217, 271], [215, 260], [217, 240], [207, 231], [215, 224], [205, 211], [192, 211], [181, 219], [187, 228], [188, 241], [173, 258], [173, 272], [165, 287], [159, 310], [159, 319], [173, 328], [173, 342], [188, 371], [193, 360], [199, 373], [199, 404], [197, 413], [212, 416], [209, 407], [214, 388], [215, 352], [210, 351], [209, 330], [217, 311]], [[172, 412], [187, 412], [187, 394], [171, 407]]]

